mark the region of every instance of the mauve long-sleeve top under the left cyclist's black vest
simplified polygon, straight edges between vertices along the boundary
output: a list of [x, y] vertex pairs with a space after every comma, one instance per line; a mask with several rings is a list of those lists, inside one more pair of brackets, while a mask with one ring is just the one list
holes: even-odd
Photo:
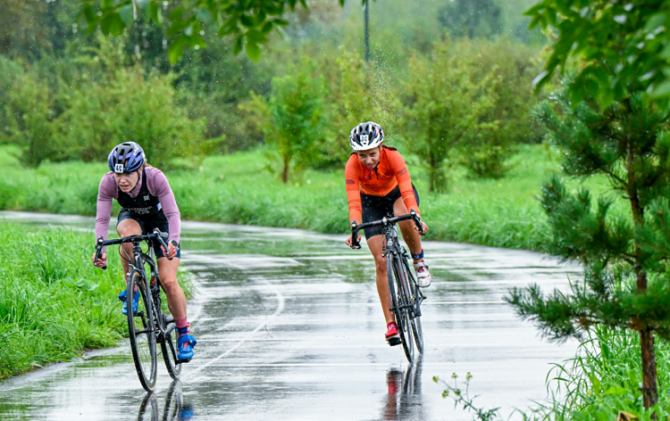
[[[177, 202], [174, 200], [172, 188], [168, 183], [163, 171], [154, 167], [145, 167], [145, 174], [147, 174], [147, 188], [149, 194], [157, 196], [163, 213], [170, 225], [169, 241], [180, 241], [181, 232], [181, 218], [180, 209]], [[139, 190], [142, 187], [142, 173], [139, 173], [138, 185], [130, 191], [130, 197], [137, 197]], [[107, 232], [109, 231], [109, 219], [112, 215], [112, 199], [119, 198], [119, 187], [114, 179], [114, 173], [108, 172], [100, 180], [100, 186], [97, 190], [97, 212], [96, 212], [96, 239], [100, 236], [107, 239]]]

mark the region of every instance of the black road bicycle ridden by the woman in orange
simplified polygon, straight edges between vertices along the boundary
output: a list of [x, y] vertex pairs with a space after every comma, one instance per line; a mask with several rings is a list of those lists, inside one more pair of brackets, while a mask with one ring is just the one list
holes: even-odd
[[415, 348], [423, 353], [423, 330], [421, 327], [421, 301], [425, 300], [419, 285], [416, 284], [412, 270], [409, 268], [410, 256], [405, 247], [398, 241], [398, 230], [396, 224], [400, 221], [413, 219], [421, 235], [423, 227], [421, 219], [415, 210], [406, 215], [393, 218], [382, 218], [372, 222], [356, 225], [351, 223], [351, 248], [360, 249], [358, 243], [358, 231], [369, 227], [381, 227], [383, 241], [383, 254], [386, 258], [386, 268], [389, 273], [389, 297], [391, 312], [396, 316], [398, 335], [403, 345], [407, 361], [415, 359]]

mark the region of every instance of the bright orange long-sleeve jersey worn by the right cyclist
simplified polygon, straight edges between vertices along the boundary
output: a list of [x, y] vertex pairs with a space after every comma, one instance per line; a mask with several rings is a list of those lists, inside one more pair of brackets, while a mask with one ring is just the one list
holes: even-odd
[[344, 176], [347, 179], [349, 220], [361, 222], [363, 213], [361, 192], [373, 196], [385, 196], [396, 186], [400, 186], [400, 194], [407, 210], [414, 209], [419, 213], [419, 205], [416, 203], [412, 179], [409, 177], [405, 160], [395, 149], [382, 147], [380, 160], [375, 169], [365, 168], [356, 154], [352, 154], [347, 161]]

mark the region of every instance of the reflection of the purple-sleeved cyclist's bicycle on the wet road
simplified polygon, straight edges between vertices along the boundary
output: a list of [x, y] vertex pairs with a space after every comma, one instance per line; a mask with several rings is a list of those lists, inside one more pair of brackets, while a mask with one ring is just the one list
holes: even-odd
[[180, 380], [172, 381], [165, 396], [163, 411], [158, 409], [158, 398], [148, 392], [139, 405], [138, 421], [190, 421], [194, 418], [193, 406], [184, 401]]

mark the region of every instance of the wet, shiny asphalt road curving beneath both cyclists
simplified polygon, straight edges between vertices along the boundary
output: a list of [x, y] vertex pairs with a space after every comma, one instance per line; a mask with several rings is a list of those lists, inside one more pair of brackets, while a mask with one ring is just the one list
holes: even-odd
[[[80, 217], [2, 217], [92, 226]], [[159, 366], [155, 397], [147, 396], [121, 343], [0, 384], [0, 419], [472, 419], [432, 381], [467, 372], [475, 403], [507, 418], [546, 400], [550, 364], [574, 355], [574, 343], [541, 340], [502, 301], [514, 286], [565, 288], [578, 276], [537, 253], [424, 244], [433, 277], [422, 308], [426, 351], [408, 366], [383, 339], [365, 248], [290, 229], [182, 229], [182, 263], [197, 276], [188, 315], [198, 344], [181, 382]]]

